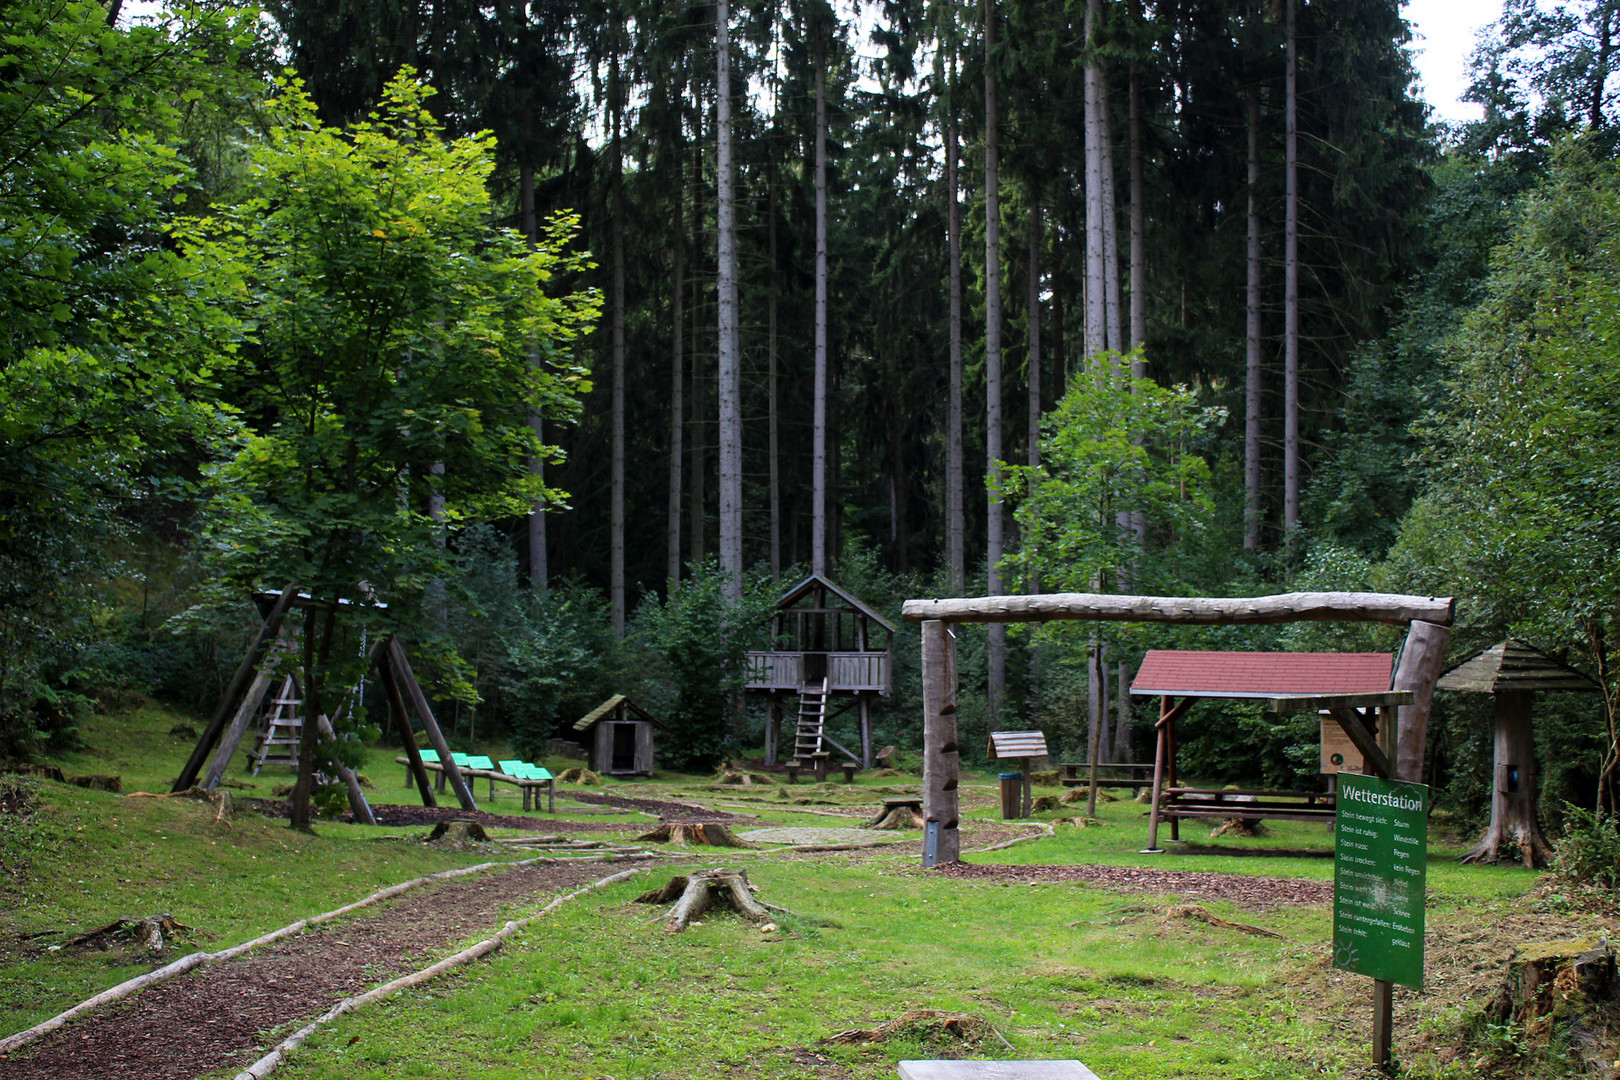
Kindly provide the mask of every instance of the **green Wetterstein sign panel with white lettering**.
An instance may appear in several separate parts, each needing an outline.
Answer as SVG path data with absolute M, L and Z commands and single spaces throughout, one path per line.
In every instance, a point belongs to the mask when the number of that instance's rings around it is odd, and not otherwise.
M 1422 986 L 1429 789 L 1338 774 L 1333 967 Z

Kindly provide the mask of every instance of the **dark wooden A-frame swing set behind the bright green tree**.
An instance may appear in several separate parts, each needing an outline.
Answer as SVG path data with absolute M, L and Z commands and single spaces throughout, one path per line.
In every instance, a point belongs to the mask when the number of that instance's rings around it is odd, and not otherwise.
M 230 683 L 225 687 L 225 693 L 220 696 L 219 706 L 209 717 L 207 727 L 198 738 L 196 748 L 193 748 L 185 767 L 175 779 L 172 789 L 175 792 L 185 792 L 193 787 L 219 787 L 219 782 L 225 777 L 225 767 L 241 746 L 241 740 L 246 737 L 253 719 L 259 714 L 271 687 L 277 682 L 275 653 L 277 643 L 287 641 L 285 631 L 288 612 L 293 609 L 329 610 L 332 607 L 329 601 L 318 601 L 308 594 L 298 593 L 295 585 L 288 585 L 280 591 L 254 593 L 253 602 L 259 609 L 262 623 L 259 625 L 253 643 L 248 646 L 248 654 L 241 657 L 241 664 L 237 667 Z M 339 601 L 339 604 L 348 604 L 348 601 Z M 455 798 L 462 810 L 478 810 L 478 803 L 473 800 L 473 790 L 467 784 L 467 777 L 462 776 L 460 767 L 457 767 L 455 758 L 450 755 L 450 746 L 444 738 L 444 732 L 439 730 L 439 722 L 434 719 L 433 709 L 428 706 L 428 695 L 421 691 L 421 685 L 411 672 L 410 659 L 405 656 L 405 648 L 392 633 L 384 635 L 376 644 L 371 646 L 368 659 L 371 670 L 377 672 L 382 691 L 389 699 L 389 716 L 399 732 L 400 742 L 405 746 L 408 767 L 411 777 L 416 780 L 418 792 L 421 792 L 423 806 L 437 806 L 437 800 L 433 793 L 433 780 L 428 776 L 428 766 L 423 763 L 421 751 L 416 748 L 416 737 L 411 730 L 410 712 L 405 708 L 407 699 L 410 701 L 411 709 L 415 709 L 416 719 L 421 722 L 421 729 L 428 735 L 428 742 L 433 743 L 433 748 L 439 753 L 439 769 L 442 771 L 450 790 L 455 792 Z M 339 706 L 337 716 L 342 717 L 342 712 L 347 708 L 348 703 L 345 701 Z M 308 724 L 309 719 L 306 717 L 303 722 Z M 313 722 L 316 724 L 316 730 L 321 738 L 327 742 L 337 740 L 330 717 L 322 714 L 313 717 Z M 343 764 L 337 766 L 337 774 L 348 789 L 348 803 L 355 811 L 355 821 L 376 824 L 376 816 L 366 803 L 366 795 L 360 789 L 358 777 L 355 777 L 355 774 Z

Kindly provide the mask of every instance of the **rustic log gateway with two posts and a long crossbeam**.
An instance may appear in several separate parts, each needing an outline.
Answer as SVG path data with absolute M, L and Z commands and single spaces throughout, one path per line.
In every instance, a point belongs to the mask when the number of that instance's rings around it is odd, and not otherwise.
M 1380 622 L 1406 627 L 1406 641 L 1395 665 L 1393 690 L 1411 695 L 1408 704 L 1383 709 L 1383 755 L 1366 730 L 1361 735 L 1377 756 L 1371 769 L 1382 776 L 1418 780 L 1429 740 L 1429 706 L 1434 685 L 1452 640 L 1455 602 L 1450 596 L 1401 596 L 1392 593 L 1283 593 L 1247 597 L 1111 596 L 1053 593 L 1043 596 L 980 596 L 962 599 L 912 599 L 901 612 L 922 623 L 923 699 L 923 866 L 961 861 L 957 831 L 961 750 L 956 733 L 956 638 L 954 623 L 1048 622 L 1163 622 L 1192 627 L 1268 625 L 1283 622 Z M 1293 703 L 1296 708 L 1298 701 Z M 1348 703 L 1335 703 L 1354 712 Z M 1349 732 L 1348 717 L 1340 722 Z M 1160 725 L 1165 719 L 1160 719 Z M 1393 729 L 1393 730 L 1392 730 Z M 1356 735 L 1351 733 L 1354 738 Z M 1358 740 L 1359 745 L 1359 740 Z M 1379 761 L 1379 758 L 1383 758 Z M 1380 769 L 1382 764 L 1382 769 Z

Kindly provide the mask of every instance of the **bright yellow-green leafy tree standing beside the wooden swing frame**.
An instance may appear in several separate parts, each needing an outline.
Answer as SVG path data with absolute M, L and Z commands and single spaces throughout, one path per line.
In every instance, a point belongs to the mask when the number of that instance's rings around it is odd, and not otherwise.
M 364 601 L 350 623 L 421 630 L 447 525 L 561 499 L 528 470 L 551 453 L 528 419 L 577 413 L 586 372 L 564 350 L 596 300 L 546 293 L 580 264 L 562 251 L 570 222 L 533 249 L 488 223 L 492 139 L 446 141 L 410 71 L 342 131 L 296 81 L 280 91 L 245 198 L 177 232 L 240 321 L 227 393 L 243 427 L 211 476 L 217 580 L 238 594 L 296 581 L 326 606 L 303 633 L 316 716 L 358 674 L 334 651 L 339 599 Z M 306 737 L 295 827 L 313 761 Z

